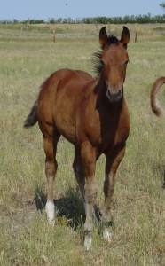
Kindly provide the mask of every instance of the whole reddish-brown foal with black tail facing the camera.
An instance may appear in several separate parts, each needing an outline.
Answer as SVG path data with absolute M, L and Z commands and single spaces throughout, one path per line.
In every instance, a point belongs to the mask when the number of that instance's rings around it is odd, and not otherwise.
M 45 172 L 48 182 L 46 213 L 54 223 L 53 179 L 57 171 L 56 151 L 62 135 L 75 145 L 73 168 L 83 196 L 86 220 L 84 246 L 91 246 L 92 211 L 97 198 L 95 179 L 96 161 L 106 155 L 104 182 L 105 202 L 100 211 L 104 239 L 111 240 L 109 225 L 112 222 L 111 202 L 114 193 L 114 176 L 124 156 L 129 136 L 130 118 L 123 96 L 123 83 L 129 61 L 127 44 L 130 32 L 123 27 L 121 40 L 99 32 L 102 50 L 98 59 L 98 76 L 93 78 L 83 71 L 60 69 L 43 82 L 39 96 L 24 126 L 38 121 L 43 133 L 46 155 Z

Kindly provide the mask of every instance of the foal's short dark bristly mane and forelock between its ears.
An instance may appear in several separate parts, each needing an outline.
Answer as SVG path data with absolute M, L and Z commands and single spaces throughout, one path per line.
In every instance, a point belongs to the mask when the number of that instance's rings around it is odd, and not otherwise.
M 119 40 L 114 35 L 107 36 L 107 47 L 109 47 L 111 44 L 117 45 L 118 43 L 119 43 Z M 100 74 L 104 66 L 104 63 L 101 60 L 102 54 L 103 54 L 102 50 L 96 51 L 93 54 L 92 66 L 96 74 Z

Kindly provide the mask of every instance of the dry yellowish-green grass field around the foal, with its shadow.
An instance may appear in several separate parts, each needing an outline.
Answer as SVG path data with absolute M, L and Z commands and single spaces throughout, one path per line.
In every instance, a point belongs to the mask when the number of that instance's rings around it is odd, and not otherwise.
M 83 251 L 83 203 L 72 170 L 73 146 L 61 138 L 55 186 L 57 224 L 44 213 L 43 139 L 37 126 L 23 129 L 43 80 L 61 67 L 93 74 L 99 26 L 0 27 L 0 265 L 165 265 L 165 119 L 151 112 L 149 92 L 165 75 L 165 25 L 128 26 L 130 64 L 125 97 L 130 109 L 127 153 L 114 192 L 114 239 L 107 245 L 94 227 Z M 122 26 L 108 26 L 117 35 Z M 138 31 L 138 43 L 134 43 Z M 159 98 L 165 106 L 165 92 Z M 103 202 L 105 158 L 97 165 Z

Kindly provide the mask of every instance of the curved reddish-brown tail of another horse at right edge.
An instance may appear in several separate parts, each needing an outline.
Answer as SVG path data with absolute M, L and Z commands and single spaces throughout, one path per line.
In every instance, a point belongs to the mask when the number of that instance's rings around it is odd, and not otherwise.
M 163 109 L 161 108 L 158 102 L 158 99 L 156 98 L 156 94 L 158 90 L 160 90 L 163 83 L 165 83 L 165 76 L 158 78 L 154 82 L 153 88 L 150 94 L 151 107 L 152 107 L 153 113 L 156 114 L 157 116 L 161 116 L 163 114 Z

